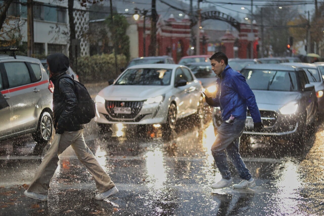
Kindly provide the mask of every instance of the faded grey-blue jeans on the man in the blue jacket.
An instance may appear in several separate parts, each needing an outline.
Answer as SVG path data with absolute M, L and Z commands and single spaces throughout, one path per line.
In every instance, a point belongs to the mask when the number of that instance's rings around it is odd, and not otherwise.
M 217 136 L 212 145 L 212 155 L 219 172 L 223 178 L 229 178 L 229 171 L 226 160 L 226 153 L 237 169 L 240 177 L 246 180 L 251 178 L 249 170 L 246 168 L 239 153 L 240 137 L 245 127 L 245 119 L 234 119 L 234 122 L 223 122 L 217 129 Z

